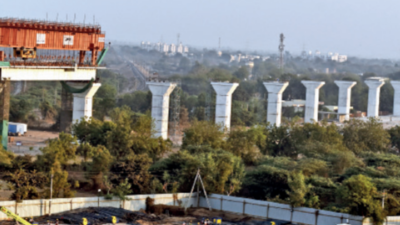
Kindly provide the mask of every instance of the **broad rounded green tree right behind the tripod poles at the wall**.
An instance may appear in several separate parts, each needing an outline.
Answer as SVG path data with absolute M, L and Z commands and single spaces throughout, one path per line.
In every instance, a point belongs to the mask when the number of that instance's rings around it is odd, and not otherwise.
M 204 148 L 204 147 L 203 147 Z M 198 151 L 198 148 L 170 155 L 168 158 L 155 163 L 151 172 L 163 175 L 168 171 L 168 180 L 163 182 L 179 182 L 180 191 L 189 191 L 196 176 L 197 169 L 201 169 L 201 176 L 205 188 L 211 193 L 232 194 L 240 190 L 245 175 L 242 160 L 232 153 L 207 148 Z

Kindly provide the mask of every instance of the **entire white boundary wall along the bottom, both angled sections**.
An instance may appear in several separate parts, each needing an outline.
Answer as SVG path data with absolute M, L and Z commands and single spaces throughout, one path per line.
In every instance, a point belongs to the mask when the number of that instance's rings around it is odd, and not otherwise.
M 138 211 L 146 208 L 146 198 L 155 199 L 156 204 L 178 205 L 174 201 L 173 194 L 149 194 L 129 195 L 129 200 L 121 201 L 118 198 L 105 200 L 103 197 L 90 198 L 60 198 L 51 202 L 51 213 L 60 213 L 73 209 L 87 207 L 115 207 L 126 210 Z M 177 194 L 177 200 L 182 201 L 182 207 L 197 206 L 197 194 L 193 194 L 189 200 L 189 193 Z M 362 216 L 353 216 L 346 213 L 337 213 L 325 210 L 318 210 L 306 207 L 291 208 L 289 205 L 276 202 L 254 200 L 248 198 L 231 197 L 226 195 L 212 194 L 209 196 L 211 208 L 236 214 L 248 216 L 292 221 L 308 225 L 337 225 L 349 220 L 351 225 L 373 225 L 372 222 Z M 42 216 L 49 214 L 49 199 L 24 200 L 22 203 L 15 201 L 1 201 L 0 205 L 5 206 L 11 212 L 16 212 L 22 217 Z M 201 197 L 200 207 L 208 207 L 206 200 Z M 0 214 L 0 220 L 8 219 L 5 214 Z M 364 219 L 364 221 L 363 221 Z M 400 216 L 389 216 L 385 225 L 400 225 Z

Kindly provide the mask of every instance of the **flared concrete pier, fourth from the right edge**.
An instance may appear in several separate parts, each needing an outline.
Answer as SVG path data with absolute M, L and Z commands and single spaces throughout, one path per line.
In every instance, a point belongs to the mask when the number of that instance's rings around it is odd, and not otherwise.
M 318 121 L 319 89 L 324 86 L 323 81 L 302 80 L 306 87 L 306 105 L 304 110 L 304 122 L 313 123 Z

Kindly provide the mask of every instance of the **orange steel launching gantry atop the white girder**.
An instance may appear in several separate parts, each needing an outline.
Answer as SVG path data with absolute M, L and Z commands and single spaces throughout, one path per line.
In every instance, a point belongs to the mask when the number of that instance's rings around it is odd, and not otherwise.
M 107 51 L 104 47 L 99 25 L 0 18 L 0 62 L 97 66 Z

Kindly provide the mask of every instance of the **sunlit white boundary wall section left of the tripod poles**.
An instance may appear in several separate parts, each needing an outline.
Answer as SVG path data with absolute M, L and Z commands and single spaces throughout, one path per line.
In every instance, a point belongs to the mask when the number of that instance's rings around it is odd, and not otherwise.
M 154 198 L 155 204 L 165 205 L 178 205 L 174 201 L 173 194 L 149 194 L 149 195 L 128 195 L 129 200 L 121 201 L 119 198 L 106 200 L 104 197 L 90 197 L 90 198 L 58 198 L 51 200 L 51 213 L 60 213 L 73 209 L 87 208 L 87 207 L 115 207 L 124 208 L 126 210 L 139 211 L 146 208 L 146 198 Z M 177 200 L 182 201 L 182 206 L 196 206 L 197 195 L 192 195 L 189 201 L 189 193 L 177 194 Z M 13 213 L 17 213 L 22 217 L 42 216 L 50 212 L 50 200 L 24 200 L 21 203 L 15 201 L 0 201 L 0 205 L 6 207 Z M 4 213 L 0 213 L 0 220 L 8 219 Z

